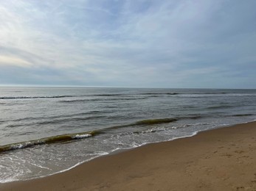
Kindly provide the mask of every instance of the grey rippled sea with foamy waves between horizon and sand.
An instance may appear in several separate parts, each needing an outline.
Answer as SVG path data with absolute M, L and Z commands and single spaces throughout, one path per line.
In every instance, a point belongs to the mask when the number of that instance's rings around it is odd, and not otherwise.
M 0 87 L 0 182 L 256 119 L 256 90 Z

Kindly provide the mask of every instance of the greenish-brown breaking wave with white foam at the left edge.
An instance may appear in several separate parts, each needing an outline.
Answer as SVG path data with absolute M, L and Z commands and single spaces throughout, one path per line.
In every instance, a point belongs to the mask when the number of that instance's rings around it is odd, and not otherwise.
M 20 143 L 12 143 L 9 145 L 1 145 L 0 146 L 0 153 L 4 151 L 13 151 L 21 148 L 28 148 L 35 145 L 45 145 L 45 144 L 52 144 L 52 143 L 65 143 L 70 140 L 79 140 L 84 139 L 88 137 L 93 137 L 97 134 L 100 134 L 100 131 L 88 131 L 88 132 L 82 132 L 82 133 L 76 133 L 76 134 L 61 134 L 56 135 L 53 137 L 46 137 L 41 138 L 38 140 L 30 140 L 30 141 L 24 141 Z

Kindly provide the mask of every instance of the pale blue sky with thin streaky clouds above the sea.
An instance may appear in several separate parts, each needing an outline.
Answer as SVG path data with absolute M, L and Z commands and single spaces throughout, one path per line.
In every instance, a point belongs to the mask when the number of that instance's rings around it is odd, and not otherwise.
M 0 84 L 256 88 L 255 0 L 1 0 Z

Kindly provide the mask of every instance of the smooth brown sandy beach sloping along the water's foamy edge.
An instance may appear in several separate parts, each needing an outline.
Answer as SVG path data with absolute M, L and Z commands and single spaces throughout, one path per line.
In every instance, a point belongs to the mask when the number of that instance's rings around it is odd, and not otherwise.
M 103 156 L 0 190 L 256 190 L 256 122 Z

